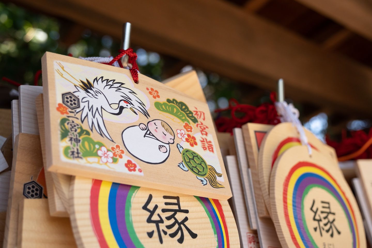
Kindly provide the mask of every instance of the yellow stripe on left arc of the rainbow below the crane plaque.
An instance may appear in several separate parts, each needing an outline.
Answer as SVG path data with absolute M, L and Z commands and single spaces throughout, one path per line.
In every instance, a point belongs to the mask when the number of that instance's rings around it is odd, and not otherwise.
M 112 182 L 102 181 L 101 188 L 99 190 L 98 197 L 98 214 L 99 222 L 101 223 L 101 228 L 103 236 L 110 248 L 119 248 L 118 243 L 115 240 L 114 234 L 111 230 L 110 220 L 109 220 L 109 193 L 111 189 Z

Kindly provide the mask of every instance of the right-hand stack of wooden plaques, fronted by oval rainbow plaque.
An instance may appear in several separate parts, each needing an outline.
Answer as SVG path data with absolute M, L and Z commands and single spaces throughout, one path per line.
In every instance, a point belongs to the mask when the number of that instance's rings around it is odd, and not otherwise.
M 241 247 L 366 247 L 334 149 L 305 133 L 310 150 L 291 123 L 247 123 L 225 142 Z

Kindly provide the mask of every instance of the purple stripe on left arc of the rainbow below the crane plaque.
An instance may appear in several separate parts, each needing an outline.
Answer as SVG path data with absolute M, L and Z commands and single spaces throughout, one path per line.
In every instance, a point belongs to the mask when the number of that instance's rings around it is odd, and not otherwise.
M 132 186 L 120 184 L 118 192 L 116 193 L 116 220 L 118 222 L 118 229 L 126 247 L 135 248 L 131 237 L 129 236 L 128 229 L 126 228 L 125 220 L 125 203 L 128 197 L 128 192 Z

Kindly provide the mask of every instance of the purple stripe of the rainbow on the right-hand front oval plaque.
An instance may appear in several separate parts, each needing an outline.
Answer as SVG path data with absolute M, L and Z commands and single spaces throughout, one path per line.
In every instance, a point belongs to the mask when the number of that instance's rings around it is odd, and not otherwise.
M 340 197 L 340 194 L 334 189 L 333 186 L 330 185 L 330 183 L 328 181 L 325 181 L 325 179 L 320 179 L 318 178 L 319 175 L 317 176 L 308 176 L 306 178 L 304 178 L 301 183 L 299 184 L 298 186 L 298 189 L 296 190 L 296 206 L 294 206 L 296 209 L 296 212 L 297 212 L 297 221 L 296 221 L 296 225 L 297 225 L 297 228 L 298 226 L 300 226 L 300 230 L 301 232 L 303 233 L 303 235 L 305 236 L 305 240 L 307 242 L 307 244 L 309 245 L 309 247 L 313 247 L 310 239 L 308 238 L 307 236 L 307 233 L 305 231 L 305 228 L 304 228 L 304 222 L 302 221 L 302 212 L 301 212 L 301 201 L 302 201 L 302 194 L 304 193 L 304 190 L 306 189 L 307 186 L 309 186 L 310 184 L 317 184 L 317 185 L 321 185 L 323 187 L 325 187 L 326 189 L 330 190 L 333 194 L 333 196 L 335 196 L 339 202 L 341 203 L 341 206 L 343 207 L 345 213 L 346 213 L 346 216 L 347 216 L 347 219 L 349 221 L 349 224 L 350 224 L 350 227 L 351 227 L 351 231 L 352 231 L 352 235 L 353 235 L 353 242 L 355 243 L 356 241 L 356 237 L 355 237 L 355 229 L 354 229 L 354 226 L 353 226 L 353 221 L 351 219 L 351 216 L 350 216 L 350 213 L 345 205 L 345 202 L 343 201 L 343 199 Z M 296 182 L 297 184 L 298 182 Z M 320 211 L 320 210 L 318 210 Z M 355 244 L 354 244 L 355 245 Z

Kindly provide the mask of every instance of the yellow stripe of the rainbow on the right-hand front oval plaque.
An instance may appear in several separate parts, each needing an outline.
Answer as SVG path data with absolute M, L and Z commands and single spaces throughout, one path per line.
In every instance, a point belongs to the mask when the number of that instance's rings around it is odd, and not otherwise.
M 345 202 L 345 204 L 347 206 L 347 210 L 349 211 L 350 216 L 352 218 L 353 225 L 355 227 L 356 241 L 358 242 L 358 235 L 359 234 L 357 233 L 357 230 L 356 230 L 355 218 L 352 215 L 351 206 L 347 202 L 346 197 L 344 196 L 344 194 L 341 192 L 341 189 L 337 186 L 337 184 L 335 183 L 334 180 L 332 180 L 331 177 L 329 177 L 326 173 L 324 173 L 323 170 L 320 170 L 318 168 L 311 167 L 311 166 L 304 166 L 304 167 L 298 168 L 292 174 L 292 177 L 291 177 L 291 179 L 289 180 L 289 183 L 288 183 L 288 191 L 287 191 L 288 192 L 287 193 L 287 206 L 288 206 L 288 215 L 289 215 L 288 217 L 289 217 L 289 220 L 291 222 L 293 233 L 294 233 L 294 235 L 296 237 L 296 240 L 298 241 L 298 244 L 300 245 L 300 247 L 305 248 L 305 245 L 303 244 L 303 242 L 301 240 L 301 237 L 299 236 L 299 232 L 297 230 L 297 227 L 296 227 L 296 223 L 295 223 L 295 219 L 294 219 L 294 214 L 293 214 L 293 207 L 292 207 L 292 195 L 293 195 L 293 190 L 294 190 L 295 183 L 296 183 L 297 179 L 303 173 L 309 173 L 309 172 L 310 173 L 315 173 L 315 174 L 318 174 L 318 175 L 324 177 L 325 180 L 327 180 L 331 185 L 333 185 L 333 187 L 336 189 L 336 191 L 340 194 L 340 196 L 343 199 L 343 201 Z M 289 190 L 291 190 L 291 191 L 289 191 Z M 357 244 L 356 247 L 359 247 L 359 244 Z

